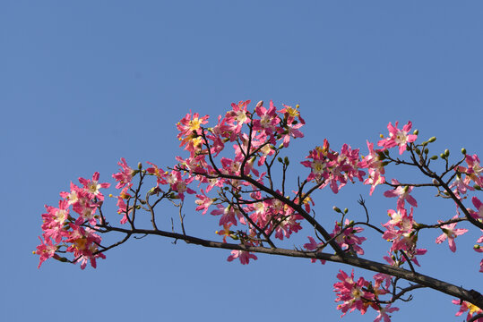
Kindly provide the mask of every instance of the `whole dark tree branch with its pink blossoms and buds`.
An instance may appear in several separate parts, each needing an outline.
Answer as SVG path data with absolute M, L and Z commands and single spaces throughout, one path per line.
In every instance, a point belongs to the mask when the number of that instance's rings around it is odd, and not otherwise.
M 334 291 L 342 316 L 355 309 L 362 314 L 367 309 L 375 309 L 378 312 L 375 322 L 383 318 L 387 322 L 389 313 L 399 310 L 392 307 L 392 303 L 410 301 L 410 292 L 426 287 L 457 298 L 453 303 L 460 306 L 458 316 L 469 311 L 468 321 L 479 320 L 483 312 L 483 296 L 478 291 L 422 275 L 417 269 L 418 257 L 427 253 L 427 249 L 418 248 L 419 233 L 442 232 L 436 243 L 447 241 L 454 252 L 457 236 L 470 229 L 483 228 L 483 203 L 472 196 L 474 208 L 464 205 L 470 193 L 479 192 L 483 183 L 483 167 L 477 155 L 469 155 L 462 149 L 463 157 L 456 163 L 450 162 L 449 150 L 439 157 L 430 156 L 429 146 L 436 138 L 417 143 L 418 131 L 410 133 L 410 122 L 402 129 L 398 128 L 397 122 L 394 125 L 389 123 L 389 135 L 381 135 L 382 140 L 377 142 L 381 148 L 375 149 L 374 143 L 367 142 L 366 156 L 360 156 L 359 149 L 347 144 L 340 151 L 334 151 L 328 140 L 324 140 L 323 146 L 309 151 L 305 161 L 300 162 L 308 168 L 309 174 L 303 180 L 298 177 L 295 190 L 290 192 L 290 159 L 280 157 L 280 151 L 288 148 L 291 140 L 304 136 L 300 128 L 306 122 L 300 116 L 298 106 L 284 106 L 277 110 L 272 102 L 268 108 L 259 102 L 253 111 L 249 111 L 248 104 L 249 101 L 233 104 L 213 127 L 205 127 L 208 115 L 186 114 L 177 123 L 177 138 L 189 157 L 177 157 L 177 165 L 168 171 L 150 162 L 148 167 L 140 163 L 134 169 L 122 158 L 120 171 L 113 174 L 118 192 L 109 195 L 117 200 L 121 226 L 111 225 L 103 213 L 104 196 L 100 190 L 108 188 L 109 183 L 99 183 L 99 173 L 95 173 L 91 180 L 80 178 L 82 186 L 71 183 L 70 191 L 61 193 L 59 207 L 46 206 L 47 213 L 42 215 L 41 244 L 35 251 L 40 256 L 39 267 L 47 258 L 80 262 L 82 268 L 90 261 L 91 266 L 96 267 L 97 258 L 106 258 L 104 254 L 108 250 L 121 246 L 131 237 L 156 235 L 175 242 L 181 240 L 231 250 L 228 260 L 238 258 L 242 264 L 257 259 L 255 253 L 265 253 L 310 258 L 312 262 L 320 260 L 323 264 L 330 261 L 377 273 L 374 281 L 367 281 L 364 277 L 356 280 L 353 270 L 350 275 L 340 271 Z M 226 149 L 228 143 L 233 147 L 232 158 Z M 392 148 L 397 148 L 398 157 L 391 155 Z M 409 158 L 401 158 L 404 153 Z M 444 161 L 444 170 L 439 173 L 430 167 L 438 158 Z M 388 165 L 414 168 L 430 182 L 401 183 L 395 178 L 386 181 Z M 280 166 L 278 188 L 274 175 L 277 166 Z M 193 182 L 198 182 L 198 191 L 192 189 Z M 396 208 L 387 210 L 390 220 L 382 226 L 371 224 L 371 215 L 361 197 L 358 202 L 364 208 L 366 222 L 349 220 L 349 210 L 337 207 L 333 210 L 340 219 L 335 221 L 332 232 L 317 221 L 313 209 L 314 192 L 329 187 L 338 193 L 349 182 L 369 185 L 370 195 L 378 185 L 389 187 L 384 196 L 396 199 Z M 146 185 L 149 189 L 145 190 Z M 436 198 L 452 199 L 456 214 L 437 223 L 418 223 L 414 219 L 418 201 L 411 191 L 422 187 L 435 189 Z M 213 192 L 216 192 L 214 196 Z M 186 233 L 182 208 L 187 194 L 196 196 L 196 211 L 202 211 L 204 215 L 211 208 L 210 214 L 220 217 L 222 228 L 217 234 L 222 237 L 222 242 Z M 155 208 L 166 202 L 179 210 L 180 232 L 175 230 L 173 219 L 171 231 L 166 227 L 160 229 L 157 223 L 159 215 Z M 150 228 L 139 224 L 139 218 L 146 216 L 151 222 Z M 456 225 L 466 225 L 468 229 L 456 228 Z M 314 236 L 307 235 L 308 242 L 301 247 L 284 247 L 283 241 L 304 226 L 314 229 Z M 387 264 L 364 258 L 362 244 L 367 237 L 362 236 L 363 227 L 391 243 L 389 256 L 383 257 Z M 101 235 L 106 233 L 123 233 L 124 237 L 105 246 L 101 243 Z M 237 243 L 227 242 L 227 239 Z M 483 236 L 476 243 L 474 250 L 483 252 L 479 246 L 483 243 Z M 72 253 L 73 258 L 65 258 L 68 253 Z M 483 272 L 483 260 L 479 271 Z M 401 287 L 402 280 L 410 284 Z M 407 294 L 409 296 L 403 298 Z

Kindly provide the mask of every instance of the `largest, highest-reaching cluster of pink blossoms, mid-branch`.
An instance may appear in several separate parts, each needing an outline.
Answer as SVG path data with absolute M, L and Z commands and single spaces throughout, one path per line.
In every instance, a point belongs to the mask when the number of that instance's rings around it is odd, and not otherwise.
M 232 104 L 232 109 L 224 117 L 218 118 L 218 123 L 212 128 L 203 128 L 208 123 L 208 116 L 200 117 L 199 114 L 186 114 L 177 123 L 179 131 L 177 138 L 181 141 L 180 146 L 189 151 L 190 157 L 177 157 L 178 171 L 190 174 L 191 180 L 206 184 L 196 197 L 196 210 L 203 210 L 214 206 L 210 214 L 220 216 L 220 226 L 223 227 L 218 233 L 226 242 L 227 237 L 240 238 L 245 245 L 259 245 L 258 236 L 274 234 L 275 238 L 283 240 L 289 238 L 291 233 L 297 233 L 302 227 L 303 219 L 293 208 L 282 203 L 280 199 L 266 198 L 260 191 L 254 191 L 250 198 L 260 200 L 246 205 L 225 204 L 226 199 L 211 199 L 206 196 L 214 187 L 229 186 L 235 191 L 241 191 L 242 186 L 250 186 L 246 181 L 237 178 L 243 175 L 254 178 L 254 181 L 263 184 L 266 173 L 260 173 L 256 167 L 264 164 L 266 157 L 272 156 L 277 141 L 280 147 L 287 148 L 290 139 L 301 138 L 303 133 L 299 131 L 305 121 L 298 113 L 298 106 L 284 106 L 280 110 L 270 102 L 270 107 L 263 106 L 259 102 L 254 113 L 248 111 L 250 101 L 241 101 Z M 250 124 L 251 131 L 246 134 L 242 131 L 245 124 Z M 210 157 L 218 157 L 225 148 L 227 142 L 234 142 L 235 157 L 221 157 L 220 167 L 211 165 Z M 244 163 L 246 155 L 252 156 Z M 243 167 L 243 169 L 242 169 Z M 243 173 L 242 173 L 243 171 Z M 280 191 L 276 191 L 280 194 Z M 304 207 L 309 209 L 309 199 L 305 199 Z M 295 198 L 297 202 L 297 197 Z M 234 232 L 234 226 L 247 225 L 246 233 Z M 256 227 L 263 227 L 262 232 Z M 250 258 L 256 259 L 253 254 L 245 250 L 233 250 L 229 261 L 239 258 L 242 264 L 247 264 Z

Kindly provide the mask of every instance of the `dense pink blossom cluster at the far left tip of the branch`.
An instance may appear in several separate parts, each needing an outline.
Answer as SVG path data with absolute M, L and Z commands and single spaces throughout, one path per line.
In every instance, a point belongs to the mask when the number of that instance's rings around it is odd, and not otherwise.
M 79 182 L 82 187 L 71 182 L 71 191 L 60 193 L 62 199 L 58 208 L 46 205 L 47 213 L 42 214 L 43 239 L 40 238 L 41 243 L 34 251 L 40 256 L 39 267 L 47 258 L 67 261 L 59 253 L 73 253 L 73 262 L 81 262 L 82 269 L 88 260 L 96 267 L 96 258 L 106 258 L 98 252 L 100 236 L 82 225 L 98 224 L 96 210 L 104 200 L 100 189 L 108 188 L 109 183 L 99 183 L 99 173 L 95 173 L 92 180 L 79 178 Z

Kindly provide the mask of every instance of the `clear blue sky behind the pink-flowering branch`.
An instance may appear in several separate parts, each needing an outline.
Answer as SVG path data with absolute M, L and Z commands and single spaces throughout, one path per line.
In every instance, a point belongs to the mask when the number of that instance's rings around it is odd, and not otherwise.
M 43 206 L 55 206 L 79 176 L 99 171 L 112 182 L 120 157 L 174 165 L 184 155 L 175 123 L 185 113 L 215 119 L 245 99 L 300 104 L 306 138 L 288 152 L 294 165 L 324 138 L 366 153 L 366 140 L 398 120 L 411 120 L 422 138 L 437 136 L 438 154 L 450 148 L 458 155 L 463 146 L 479 153 L 482 14 L 477 1 L 2 2 L 0 317 L 338 320 L 332 284 L 339 269 L 350 268 L 336 264 L 260 255 L 241 266 L 226 261 L 226 250 L 147 237 L 109 251 L 97 269 L 57 261 L 37 269 L 31 251 Z M 386 222 L 395 204 L 380 197 L 384 190 L 367 200 L 375 223 Z M 334 205 L 360 214 L 359 193 L 367 196 L 367 187 L 321 191 L 315 210 L 327 223 L 336 219 Z M 414 195 L 417 221 L 453 216 L 453 205 L 433 200 L 434 191 Z M 186 215 L 193 234 L 217 229 L 210 216 Z M 114 211 L 109 216 L 116 221 Z M 167 207 L 166 216 L 176 209 Z M 305 242 L 307 232 L 299 234 L 294 243 Z M 480 258 L 471 250 L 477 233 L 459 237 L 456 254 L 447 243 L 436 247 L 438 234 L 420 241 L 429 249 L 421 272 L 481 291 Z M 375 259 L 388 248 L 369 245 Z M 461 320 L 453 318 L 452 298 L 413 295 L 396 305 L 392 321 Z M 374 318 L 369 311 L 342 321 Z

